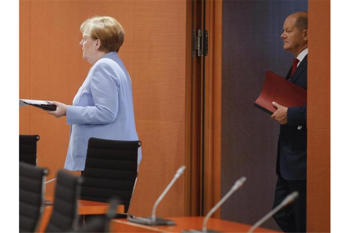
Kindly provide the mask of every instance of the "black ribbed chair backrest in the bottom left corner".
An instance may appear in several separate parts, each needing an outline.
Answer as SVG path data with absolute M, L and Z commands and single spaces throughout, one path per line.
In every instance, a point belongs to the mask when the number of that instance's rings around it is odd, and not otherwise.
M 44 211 L 48 169 L 19 164 L 19 232 L 36 232 Z

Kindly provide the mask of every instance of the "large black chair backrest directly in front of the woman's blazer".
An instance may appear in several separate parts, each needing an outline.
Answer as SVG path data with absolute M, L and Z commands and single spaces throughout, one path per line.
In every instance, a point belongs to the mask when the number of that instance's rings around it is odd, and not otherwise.
M 140 141 L 90 138 L 80 198 L 109 202 L 118 197 L 127 212 L 137 179 L 140 146 Z

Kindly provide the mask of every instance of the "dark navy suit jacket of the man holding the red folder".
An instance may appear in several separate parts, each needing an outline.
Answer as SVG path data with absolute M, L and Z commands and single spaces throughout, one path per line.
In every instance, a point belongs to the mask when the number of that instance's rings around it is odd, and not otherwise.
M 307 55 L 289 78 L 290 71 L 286 78 L 307 89 Z M 289 107 L 287 121 L 280 126 L 276 172 L 285 180 L 306 180 L 306 105 Z M 302 125 L 301 130 L 297 129 L 299 125 Z

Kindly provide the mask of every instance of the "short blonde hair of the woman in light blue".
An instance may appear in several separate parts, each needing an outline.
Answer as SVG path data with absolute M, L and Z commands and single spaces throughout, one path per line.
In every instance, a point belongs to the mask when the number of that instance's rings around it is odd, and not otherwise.
M 98 49 L 106 53 L 118 52 L 124 42 L 124 29 L 121 24 L 110 16 L 94 16 L 80 25 L 83 33 L 87 29 L 88 35 L 93 39 L 100 39 Z

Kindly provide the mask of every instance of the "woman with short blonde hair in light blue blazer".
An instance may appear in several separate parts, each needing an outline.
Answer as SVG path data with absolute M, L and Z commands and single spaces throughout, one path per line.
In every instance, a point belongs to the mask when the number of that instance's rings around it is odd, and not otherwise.
M 84 170 L 89 138 L 139 140 L 135 127 L 130 76 L 117 52 L 124 30 L 116 19 L 96 16 L 80 26 L 83 58 L 92 67 L 73 99 L 73 105 L 53 101 L 56 117 L 71 125 L 64 168 Z M 141 161 L 141 149 L 138 164 Z

